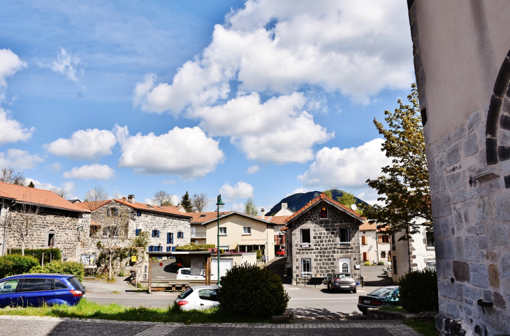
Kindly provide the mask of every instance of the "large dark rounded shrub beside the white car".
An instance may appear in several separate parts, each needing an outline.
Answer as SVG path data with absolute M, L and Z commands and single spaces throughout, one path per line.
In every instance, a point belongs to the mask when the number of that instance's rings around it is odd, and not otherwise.
M 219 309 L 227 315 L 269 317 L 285 312 L 289 294 L 278 275 L 245 263 L 227 271 L 218 300 Z

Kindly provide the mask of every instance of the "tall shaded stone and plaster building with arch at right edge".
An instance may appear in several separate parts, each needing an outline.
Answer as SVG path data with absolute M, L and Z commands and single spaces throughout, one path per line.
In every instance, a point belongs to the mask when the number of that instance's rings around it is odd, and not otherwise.
M 408 0 L 441 335 L 510 334 L 510 3 Z

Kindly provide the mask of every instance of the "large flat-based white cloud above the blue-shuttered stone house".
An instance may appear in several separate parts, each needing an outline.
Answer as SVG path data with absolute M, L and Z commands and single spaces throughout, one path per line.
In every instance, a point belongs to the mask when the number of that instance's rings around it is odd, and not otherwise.
M 127 127 L 117 127 L 117 139 L 122 151 L 119 167 L 140 174 L 175 174 L 186 180 L 207 175 L 224 160 L 219 142 L 198 127 L 133 136 Z

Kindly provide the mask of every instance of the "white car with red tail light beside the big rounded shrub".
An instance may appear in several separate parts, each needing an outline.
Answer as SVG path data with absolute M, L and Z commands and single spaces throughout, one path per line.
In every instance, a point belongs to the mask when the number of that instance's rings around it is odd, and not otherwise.
M 218 286 L 194 286 L 177 296 L 174 303 L 182 310 L 208 310 L 218 307 Z

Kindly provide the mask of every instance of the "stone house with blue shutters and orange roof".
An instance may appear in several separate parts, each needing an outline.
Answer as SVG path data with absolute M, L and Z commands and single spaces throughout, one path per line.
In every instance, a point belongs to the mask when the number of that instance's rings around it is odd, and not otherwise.
M 149 232 L 149 251 L 170 252 L 173 248 L 188 245 L 191 241 L 191 216 L 182 213 L 177 206 L 136 202 L 134 195 L 129 195 L 127 199 L 82 202 L 77 205 L 91 209 L 92 220 L 99 224 L 92 227 L 92 238 L 101 239 L 112 222 L 112 217 L 123 217 L 122 221 L 127 223 L 127 238 L 135 238 L 142 231 Z

